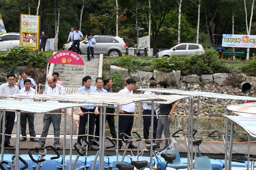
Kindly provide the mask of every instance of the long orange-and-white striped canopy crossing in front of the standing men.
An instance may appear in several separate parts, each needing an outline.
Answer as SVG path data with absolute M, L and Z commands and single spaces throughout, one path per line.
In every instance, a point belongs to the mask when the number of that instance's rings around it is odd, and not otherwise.
M 1 95 L 1 97 L 30 98 L 42 100 L 58 100 L 67 102 L 101 103 L 111 105 L 126 105 L 133 102 L 154 101 L 173 103 L 191 96 L 181 95 L 145 95 L 145 94 L 120 94 L 120 93 L 73 93 L 73 94 L 15 94 Z

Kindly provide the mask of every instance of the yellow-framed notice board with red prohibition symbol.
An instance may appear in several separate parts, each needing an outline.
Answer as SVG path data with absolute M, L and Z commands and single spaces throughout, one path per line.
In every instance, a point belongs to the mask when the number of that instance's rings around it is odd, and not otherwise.
M 40 16 L 20 14 L 20 45 L 39 49 Z

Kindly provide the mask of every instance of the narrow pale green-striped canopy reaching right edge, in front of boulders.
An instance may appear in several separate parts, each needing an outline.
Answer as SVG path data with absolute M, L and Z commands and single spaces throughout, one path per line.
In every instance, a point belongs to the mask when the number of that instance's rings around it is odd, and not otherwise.
M 230 99 L 230 100 L 254 100 L 256 101 L 256 97 L 247 97 L 247 96 L 235 96 L 229 94 L 220 94 L 220 93 L 212 93 L 212 92 L 204 92 L 204 91 L 183 91 L 177 89 L 167 89 L 167 88 L 143 88 L 137 89 L 139 91 L 154 91 L 160 93 L 169 93 L 169 94 L 180 94 L 180 95 L 189 95 L 195 97 L 211 97 L 211 98 L 220 98 L 220 99 Z

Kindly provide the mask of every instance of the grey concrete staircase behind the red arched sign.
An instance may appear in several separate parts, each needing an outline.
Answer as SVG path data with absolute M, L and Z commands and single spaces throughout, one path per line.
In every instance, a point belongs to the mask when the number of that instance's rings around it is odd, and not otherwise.
M 101 64 L 99 64 L 100 57 L 97 55 L 94 56 L 94 59 L 91 59 L 89 62 L 87 61 L 87 55 L 80 56 L 85 62 L 86 75 L 92 77 L 92 86 L 95 86 L 96 78 L 102 76 L 102 61 Z M 103 57 L 101 60 L 102 59 Z M 84 65 L 55 64 L 53 72 L 59 73 L 59 80 L 62 82 L 63 87 L 79 88 L 82 86 L 82 79 L 84 77 Z

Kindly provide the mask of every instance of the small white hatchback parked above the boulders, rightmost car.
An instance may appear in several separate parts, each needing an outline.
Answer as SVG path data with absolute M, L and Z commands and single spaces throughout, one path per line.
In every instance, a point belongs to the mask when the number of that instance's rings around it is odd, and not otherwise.
M 170 57 L 173 55 L 186 56 L 196 52 L 204 54 L 204 48 L 201 44 L 180 43 L 170 49 L 157 52 L 156 58 Z

